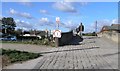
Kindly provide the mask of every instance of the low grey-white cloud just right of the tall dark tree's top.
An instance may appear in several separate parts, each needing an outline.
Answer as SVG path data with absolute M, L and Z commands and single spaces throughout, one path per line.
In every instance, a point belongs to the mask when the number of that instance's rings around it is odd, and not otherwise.
M 24 30 L 30 30 L 35 29 L 35 24 L 31 24 L 29 22 L 21 21 L 21 20 L 15 20 L 17 28 L 22 28 Z

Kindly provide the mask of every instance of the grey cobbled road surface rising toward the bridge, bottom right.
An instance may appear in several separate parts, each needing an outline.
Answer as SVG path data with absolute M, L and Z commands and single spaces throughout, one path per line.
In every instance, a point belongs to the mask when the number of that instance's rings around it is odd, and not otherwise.
M 45 53 L 34 69 L 118 69 L 118 46 L 101 38 L 85 39 L 81 45 Z

